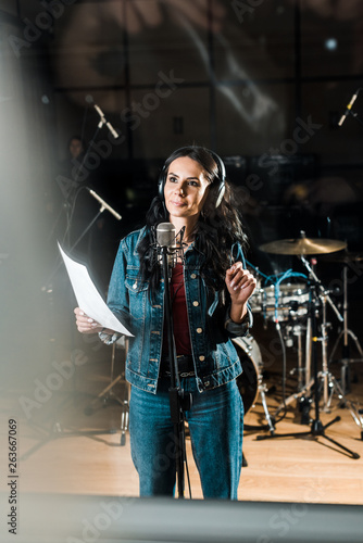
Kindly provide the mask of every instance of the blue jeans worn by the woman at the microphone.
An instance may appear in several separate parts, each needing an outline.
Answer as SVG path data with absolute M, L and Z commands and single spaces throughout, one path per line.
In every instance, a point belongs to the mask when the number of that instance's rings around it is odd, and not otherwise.
M 129 431 L 140 496 L 173 496 L 175 490 L 174 427 L 170 416 L 168 379 L 160 379 L 158 393 L 132 387 Z M 203 496 L 237 500 L 242 466 L 243 404 L 236 381 L 198 392 L 196 379 L 182 379 L 192 393 L 186 412 L 192 454 Z

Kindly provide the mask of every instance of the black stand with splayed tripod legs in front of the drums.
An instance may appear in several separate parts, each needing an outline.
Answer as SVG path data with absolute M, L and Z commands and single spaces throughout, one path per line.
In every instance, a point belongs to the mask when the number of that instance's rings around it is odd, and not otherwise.
M 314 277 L 315 274 L 314 274 L 313 270 L 311 270 L 309 263 L 305 261 L 305 258 L 303 256 L 301 256 L 301 260 L 304 262 L 306 268 L 312 273 L 312 276 Z M 256 439 L 258 440 L 266 440 L 266 439 L 276 439 L 276 438 L 305 438 L 305 437 L 309 437 L 309 435 L 314 437 L 314 438 L 322 437 L 322 438 L 325 438 L 326 440 L 328 440 L 329 442 L 334 443 L 338 447 L 337 452 L 340 452 L 339 449 L 341 449 L 342 452 L 346 453 L 346 454 L 348 454 L 351 458 L 358 459 L 358 458 L 360 458 L 360 455 L 358 453 L 354 453 L 353 451 L 351 451 L 350 449 L 346 447 L 341 443 L 338 443 L 338 441 L 334 440 L 333 438 L 329 438 L 325 433 L 325 430 L 329 426 L 334 425 L 335 422 L 338 422 L 340 420 L 340 417 L 339 416 L 335 417 L 333 420 L 330 420 L 326 425 L 323 425 L 322 421 L 321 421 L 321 419 L 320 419 L 320 387 L 318 387 L 320 375 L 318 375 L 318 371 L 317 371 L 317 355 L 316 355 L 316 343 L 318 341 L 318 338 L 316 336 L 316 308 L 317 308 L 317 303 L 318 303 L 320 295 L 317 295 L 316 292 L 315 292 L 316 287 L 318 287 L 320 289 L 323 288 L 322 285 L 321 285 L 321 281 L 317 278 L 316 278 L 315 283 L 312 283 L 310 286 L 311 292 L 310 292 L 310 304 L 309 304 L 310 307 L 309 307 L 309 312 L 310 312 L 310 316 L 311 316 L 311 319 L 312 319 L 313 380 L 306 387 L 306 390 L 311 389 L 311 387 L 313 387 L 313 389 L 314 389 L 315 418 L 312 420 L 311 429 L 309 431 L 306 431 L 306 432 L 291 432 L 291 433 L 280 433 L 280 434 L 274 433 L 274 434 L 271 434 L 271 435 L 258 435 Z M 326 295 L 326 300 L 327 299 L 328 299 L 328 295 Z M 324 331 L 324 329 L 323 329 L 323 331 Z M 321 376 L 322 376 L 322 374 L 321 374 Z

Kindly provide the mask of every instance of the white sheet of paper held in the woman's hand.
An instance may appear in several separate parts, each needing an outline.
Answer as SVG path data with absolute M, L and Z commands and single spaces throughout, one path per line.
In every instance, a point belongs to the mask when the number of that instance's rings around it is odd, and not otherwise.
M 58 243 L 58 247 L 68 273 L 78 307 L 104 328 L 111 328 L 111 330 L 115 330 L 124 336 L 133 337 L 105 304 L 103 298 L 89 277 L 86 266 L 73 261 L 65 254 L 60 243 Z

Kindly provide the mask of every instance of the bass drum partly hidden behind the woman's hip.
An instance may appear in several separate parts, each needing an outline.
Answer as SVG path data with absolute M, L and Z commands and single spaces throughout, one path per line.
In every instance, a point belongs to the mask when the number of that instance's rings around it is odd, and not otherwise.
M 243 400 L 246 415 L 259 395 L 259 384 L 262 379 L 261 351 L 250 333 L 242 338 L 233 338 L 231 341 L 243 369 L 243 372 L 237 377 L 237 386 Z

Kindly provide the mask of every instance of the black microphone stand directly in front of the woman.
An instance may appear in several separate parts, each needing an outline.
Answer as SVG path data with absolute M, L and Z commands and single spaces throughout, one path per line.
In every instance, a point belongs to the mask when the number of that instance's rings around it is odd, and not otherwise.
M 190 408 L 191 394 L 185 395 L 184 390 L 180 387 L 180 380 L 177 370 L 171 290 L 170 290 L 171 277 L 167 264 L 168 248 L 167 245 L 162 245 L 159 248 L 159 250 L 161 251 L 162 255 L 162 267 L 164 277 L 164 307 L 165 307 L 168 359 L 170 359 L 170 372 L 171 372 L 171 387 L 168 389 L 168 397 L 171 406 L 171 417 L 174 425 L 176 478 L 177 478 L 178 497 L 183 498 L 185 491 L 184 464 L 186 459 L 184 411 L 188 411 Z

